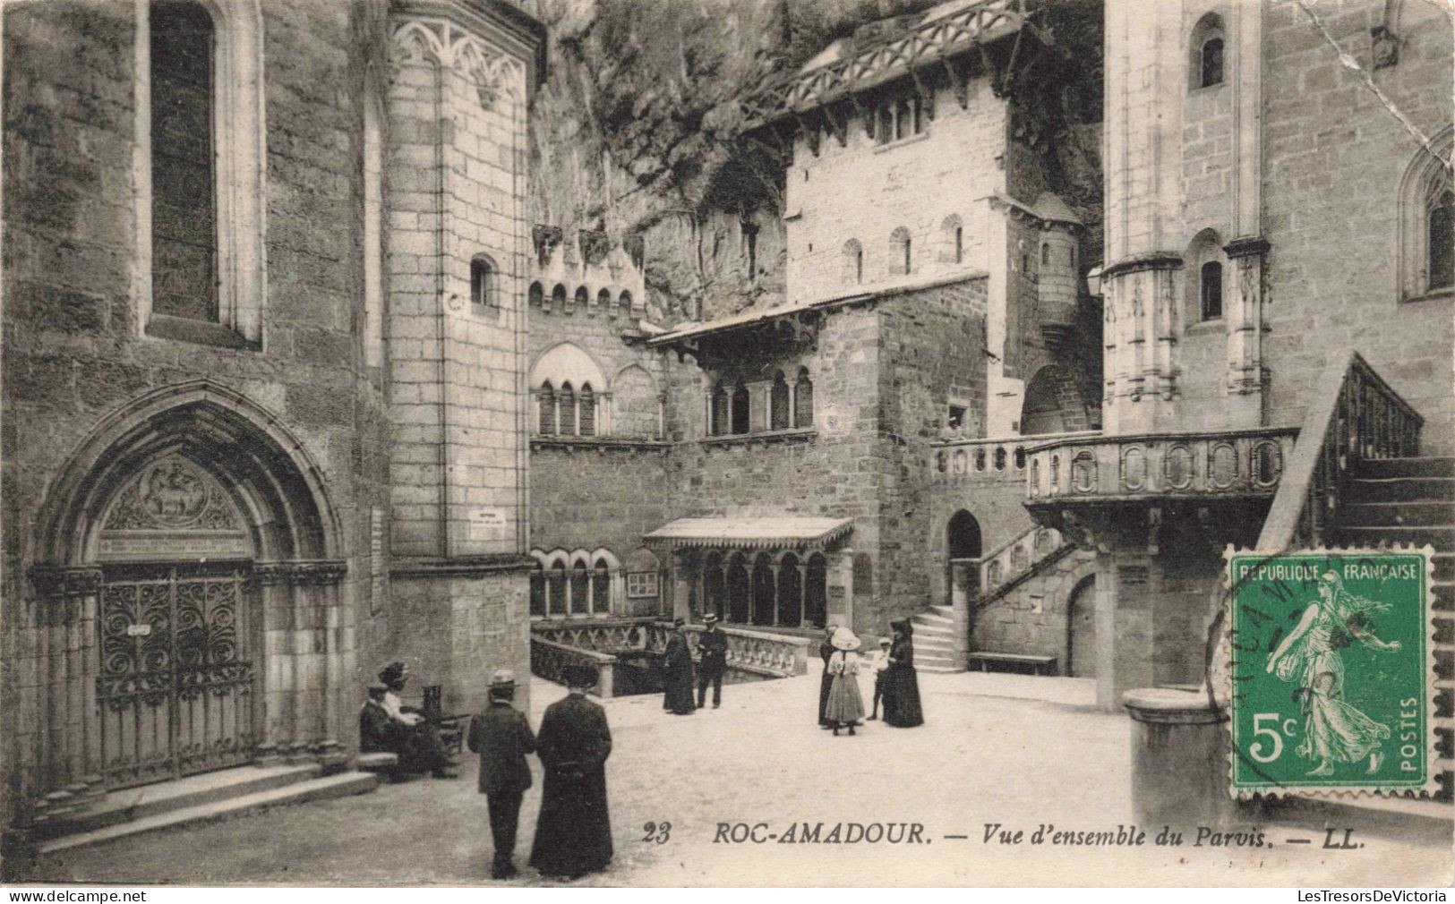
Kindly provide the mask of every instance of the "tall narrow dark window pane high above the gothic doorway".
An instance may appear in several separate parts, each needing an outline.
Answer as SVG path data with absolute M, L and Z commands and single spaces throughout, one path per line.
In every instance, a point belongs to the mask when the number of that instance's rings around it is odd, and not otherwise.
M 151 4 L 151 311 L 221 320 L 212 16 Z

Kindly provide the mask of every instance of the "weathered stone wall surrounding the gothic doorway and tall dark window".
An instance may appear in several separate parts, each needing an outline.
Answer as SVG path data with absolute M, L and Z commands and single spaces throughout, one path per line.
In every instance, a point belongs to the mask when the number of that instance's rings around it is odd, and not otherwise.
M 48 491 L 102 419 L 148 394 L 210 381 L 265 411 L 317 465 L 336 529 L 326 554 L 345 560 L 338 608 L 291 625 L 294 650 L 336 654 L 324 679 L 343 682 L 323 727 L 354 743 L 339 717 L 356 695 L 355 606 L 375 584 L 370 526 L 381 501 L 378 387 L 359 366 L 362 321 L 359 92 L 351 7 L 266 4 L 268 285 L 262 344 L 224 347 L 143 337 L 134 163 L 135 10 L 68 3 L 4 12 L 4 423 L 3 660 L 16 705 L 0 717 L 6 760 L 41 754 L 45 648 L 26 580 Z M 143 167 L 148 166 L 141 163 Z M 272 423 L 259 429 L 271 427 Z M 65 562 L 58 562 L 65 564 Z M 272 664 L 284 666 L 279 653 Z M 288 666 L 291 671 L 292 666 Z M 319 731 L 319 727 L 310 728 Z M 308 743 L 319 737 L 284 738 Z M 15 776 L 10 776 L 15 778 Z M 39 776 L 25 775 L 23 788 Z

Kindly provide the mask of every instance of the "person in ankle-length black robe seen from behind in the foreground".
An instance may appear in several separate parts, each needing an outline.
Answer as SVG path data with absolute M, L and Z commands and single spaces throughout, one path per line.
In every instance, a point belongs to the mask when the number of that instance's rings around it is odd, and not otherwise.
M 546 786 L 531 866 L 547 876 L 575 879 L 611 862 L 605 766 L 611 730 L 605 709 L 586 699 L 597 670 L 567 666 L 565 671 L 570 695 L 546 709 L 535 735 Z

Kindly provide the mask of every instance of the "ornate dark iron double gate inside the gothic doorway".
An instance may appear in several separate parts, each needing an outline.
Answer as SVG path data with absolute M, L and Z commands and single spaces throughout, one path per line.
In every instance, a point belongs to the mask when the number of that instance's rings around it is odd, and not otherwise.
M 252 757 L 247 573 L 240 562 L 106 568 L 96 702 L 108 786 Z

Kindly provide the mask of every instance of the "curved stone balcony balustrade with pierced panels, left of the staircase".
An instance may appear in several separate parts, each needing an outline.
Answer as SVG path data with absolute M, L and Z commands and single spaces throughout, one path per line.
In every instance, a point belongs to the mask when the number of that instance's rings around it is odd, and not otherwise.
M 1026 504 L 1273 496 L 1293 427 L 1059 439 L 1027 452 Z

